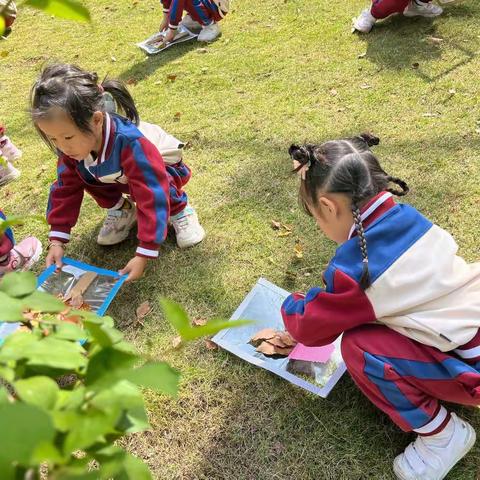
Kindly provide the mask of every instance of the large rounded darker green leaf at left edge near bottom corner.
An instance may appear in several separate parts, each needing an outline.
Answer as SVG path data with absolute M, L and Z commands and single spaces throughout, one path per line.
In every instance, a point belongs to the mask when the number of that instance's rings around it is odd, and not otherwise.
M 21 402 L 0 406 L 0 432 L 0 465 L 28 465 L 37 446 L 55 436 L 49 415 Z

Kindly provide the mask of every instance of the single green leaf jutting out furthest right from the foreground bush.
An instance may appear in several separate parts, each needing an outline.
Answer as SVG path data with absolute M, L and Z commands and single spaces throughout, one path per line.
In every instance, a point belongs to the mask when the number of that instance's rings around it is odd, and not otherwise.
M 176 396 L 180 374 L 168 363 L 147 362 L 141 367 L 127 372 L 124 378 L 140 387 L 151 388 L 156 392 Z

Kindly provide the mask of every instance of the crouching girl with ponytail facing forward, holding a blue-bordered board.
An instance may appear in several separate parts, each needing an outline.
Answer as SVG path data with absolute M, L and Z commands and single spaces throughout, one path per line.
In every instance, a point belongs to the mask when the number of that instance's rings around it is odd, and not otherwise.
M 99 84 L 96 74 L 57 64 L 42 72 L 31 98 L 35 127 L 58 154 L 58 178 L 47 210 L 51 227 L 47 266 L 61 267 L 85 192 L 108 209 L 99 244 L 125 240 L 138 223 L 135 257 L 121 270 L 129 280 L 142 275 L 147 259 L 158 257 L 169 224 L 181 248 L 203 239 L 205 232 L 183 190 L 190 178 L 182 161 L 183 144 L 160 127 L 139 122 L 123 84 L 116 80 Z M 126 118 L 107 113 L 113 110 L 109 103 L 121 107 Z

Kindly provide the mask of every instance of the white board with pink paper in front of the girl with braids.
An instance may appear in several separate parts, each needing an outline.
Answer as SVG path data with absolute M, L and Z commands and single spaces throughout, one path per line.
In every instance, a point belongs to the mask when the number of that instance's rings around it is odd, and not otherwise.
M 249 343 L 263 328 L 285 330 L 280 308 L 288 295 L 286 290 L 260 278 L 231 317 L 231 320 L 246 319 L 254 323 L 222 330 L 213 341 L 243 360 L 325 398 L 346 370 L 340 352 L 341 338 L 324 347 L 297 344 L 290 355 L 283 358 L 265 356 Z

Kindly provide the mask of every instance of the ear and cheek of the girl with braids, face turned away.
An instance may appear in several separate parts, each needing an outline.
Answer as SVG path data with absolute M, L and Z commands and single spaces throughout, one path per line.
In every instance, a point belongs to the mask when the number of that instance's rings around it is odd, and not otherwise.
M 318 203 L 309 207 L 320 230 L 334 242 L 348 240 L 353 225 L 351 200 L 341 193 L 319 193 Z

